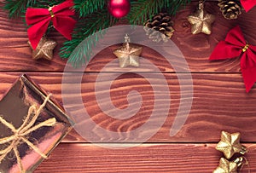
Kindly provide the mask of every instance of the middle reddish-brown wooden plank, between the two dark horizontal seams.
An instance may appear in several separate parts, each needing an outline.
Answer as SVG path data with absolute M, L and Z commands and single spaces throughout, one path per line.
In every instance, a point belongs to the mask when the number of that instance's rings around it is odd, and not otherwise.
M 31 78 L 47 91 L 53 93 L 57 101 L 62 101 L 61 95 L 61 73 L 38 73 L 29 72 Z M 100 86 L 109 84 L 109 78 L 116 73 L 103 73 L 104 78 L 98 82 Z M 18 78 L 20 72 L 0 72 L 0 97 L 6 92 L 11 84 Z M 143 105 L 139 112 L 127 120 L 110 118 L 106 113 L 103 113 L 98 106 L 95 95 L 95 84 L 97 73 L 85 73 L 82 80 L 82 99 L 84 107 L 89 112 L 91 118 L 96 124 L 101 124 L 104 129 L 111 131 L 131 131 L 137 129 L 142 124 L 148 121 L 154 108 L 154 93 L 152 86 L 148 81 L 133 73 L 127 73 L 117 78 L 110 91 L 111 99 L 115 107 L 124 108 L 128 106 L 126 96 L 129 91 L 135 89 L 143 96 Z M 150 80 L 156 81 L 160 87 L 163 85 L 161 81 L 150 74 Z M 256 89 L 255 87 L 246 93 L 242 82 L 241 74 L 207 74 L 195 73 L 192 74 L 194 84 L 193 104 L 186 124 L 179 130 L 176 136 L 169 136 L 174 118 L 177 116 L 177 110 L 180 104 L 180 85 L 177 80 L 177 74 L 166 73 L 165 78 L 170 89 L 171 105 L 166 122 L 160 130 L 148 142 L 216 142 L 219 139 L 221 130 L 230 132 L 241 132 L 241 140 L 247 142 L 256 141 Z M 76 78 L 76 77 L 73 77 Z M 80 94 L 73 90 L 77 84 L 72 84 L 72 79 L 69 78 L 71 84 L 70 94 L 64 95 L 73 99 L 73 105 L 70 106 L 74 110 L 79 111 L 79 103 L 76 96 Z M 189 80 L 183 79 L 185 84 L 189 84 Z M 189 88 L 187 88 L 189 89 Z M 187 90 L 187 94 L 191 90 Z M 103 93 L 108 93 L 108 90 L 102 90 Z M 186 94 L 185 94 L 186 96 Z M 104 101 L 105 98 L 102 98 Z M 162 111 L 166 106 L 158 111 Z M 109 110 L 111 111 L 111 110 Z M 159 115 L 160 116 L 160 115 Z M 158 118 L 155 117 L 155 121 Z M 152 129 L 154 130 L 154 129 Z M 108 137 L 106 137 L 108 138 Z M 64 141 L 81 141 L 81 138 L 74 131 L 71 132 Z

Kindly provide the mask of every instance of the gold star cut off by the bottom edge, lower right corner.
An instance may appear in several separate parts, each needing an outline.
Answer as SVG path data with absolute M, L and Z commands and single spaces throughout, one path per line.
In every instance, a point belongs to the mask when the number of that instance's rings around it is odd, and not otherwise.
M 213 173 L 237 173 L 237 167 L 236 162 L 221 158 L 218 167 L 213 170 Z

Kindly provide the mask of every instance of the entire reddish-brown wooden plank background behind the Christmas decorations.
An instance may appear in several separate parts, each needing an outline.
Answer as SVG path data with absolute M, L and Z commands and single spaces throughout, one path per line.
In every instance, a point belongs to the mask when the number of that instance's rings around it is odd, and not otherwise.
M 183 52 L 194 84 L 189 118 L 176 136 L 170 137 L 169 130 L 180 101 L 177 75 L 164 61 L 164 57 L 151 49 L 143 48 L 143 57 L 159 66 L 173 95 L 169 116 L 162 128 L 139 147 L 120 150 L 96 147 L 73 130 L 35 172 L 212 172 L 221 157 L 221 153 L 215 150 L 221 130 L 241 132 L 241 141 L 249 148 L 246 154 L 249 166 L 244 166 L 241 172 L 256 172 L 256 85 L 246 93 L 238 58 L 208 61 L 212 49 L 233 26 L 241 26 L 247 42 L 256 45 L 256 8 L 247 14 L 244 12 L 238 20 L 225 20 L 217 3 L 206 3 L 207 11 L 216 15 L 210 36 L 190 33 L 186 17 L 195 10 L 196 2 L 180 10 L 173 18 L 176 32 L 172 41 Z M 26 72 L 41 87 L 53 93 L 58 101 L 62 101 L 61 78 L 67 61 L 61 60 L 57 52 L 64 38 L 57 32 L 49 37 L 59 43 L 53 61 L 33 61 L 22 20 L 9 20 L 7 12 L 0 10 L 0 97 L 21 73 Z M 152 109 L 154 97 L 147 81 L 133 73 L 127 73 L 113 83 L 112 100 L 121 103 L 117 107 L 127 106 L 125 98 L 132 89 L 137 89 L 143 95 L 143 108 L 127 122 L 108 118 L 102 113 L 96 105 L 93 91 L 98 72 L 115 58 L 112 51 L 117 47 L 118 45 L 113 45 L 102 50 L 84 72 L 84 106 L 103 128 L 113 131 L 131 130 L 145 123 L 150 116 L 148 110 Z M 110 69 L 106 75 L 114 73 L 114 69 Z

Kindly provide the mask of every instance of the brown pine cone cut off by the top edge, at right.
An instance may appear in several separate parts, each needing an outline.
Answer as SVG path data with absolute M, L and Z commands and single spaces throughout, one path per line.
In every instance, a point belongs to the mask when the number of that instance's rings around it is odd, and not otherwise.
M 240 0 L 218 0 L 218 7 L 227 20 L 237 19 L 241 14 Z

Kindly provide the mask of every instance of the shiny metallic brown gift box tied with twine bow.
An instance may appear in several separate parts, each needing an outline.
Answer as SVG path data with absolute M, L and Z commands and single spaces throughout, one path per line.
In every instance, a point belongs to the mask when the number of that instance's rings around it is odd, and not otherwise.
M 72 125 L 63 107 L 20 76 L 0 101 L 0 172 L 32 172 Z

